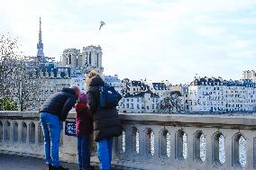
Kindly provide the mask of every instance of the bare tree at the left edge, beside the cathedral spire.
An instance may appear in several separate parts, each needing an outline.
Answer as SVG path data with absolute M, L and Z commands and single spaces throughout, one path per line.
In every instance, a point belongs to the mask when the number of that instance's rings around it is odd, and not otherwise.
M 20 110 L 27 110 L 38 93 L 38 65 L 28 65 L 19 50 L 17 40 L 0 35 L 0 98 L 12 98 Z

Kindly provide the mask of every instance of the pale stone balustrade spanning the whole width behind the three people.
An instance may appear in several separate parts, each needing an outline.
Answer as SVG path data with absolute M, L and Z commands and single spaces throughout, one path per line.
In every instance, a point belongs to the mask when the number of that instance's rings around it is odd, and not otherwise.
M 69 120 L 74 118 L 69 114 Z M 124 130 L 123 136 L 114 139 L 114 166 L 256 169 L 256 117 L 120 114 L 120 118 Z M 0 112 L 0 142 L 2 153 L 43 157 L 38 113 Z M 62 160 L 76 162 L 76 143 L 76 138 L 62 135 Z M 98 162 L 96 157 L 92 161 Z

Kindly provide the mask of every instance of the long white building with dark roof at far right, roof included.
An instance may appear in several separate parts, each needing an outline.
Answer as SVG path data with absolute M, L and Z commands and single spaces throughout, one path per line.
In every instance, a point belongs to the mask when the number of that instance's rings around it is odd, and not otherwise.
M 253 112 L 256 85 L 251 80 L 196 78 L 188 86 L 189 112 Z

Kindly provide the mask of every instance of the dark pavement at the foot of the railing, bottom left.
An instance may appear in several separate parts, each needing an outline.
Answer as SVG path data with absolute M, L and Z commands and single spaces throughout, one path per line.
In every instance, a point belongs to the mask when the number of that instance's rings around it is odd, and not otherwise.
M 70 170 L 77 170 L 76 165 L 62 164 Z M 32 157 L 19 157 L 0 154 L 0 170 L 47 170 L 44 160 Z

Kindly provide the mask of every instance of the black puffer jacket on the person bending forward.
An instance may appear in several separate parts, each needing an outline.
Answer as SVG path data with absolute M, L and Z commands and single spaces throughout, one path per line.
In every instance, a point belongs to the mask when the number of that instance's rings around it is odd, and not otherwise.
M 49 112 L 59 116 L 60 121 L 65 121 L 69 111 L 77 103 L 77 95 L 74 89 L 63 88 L 61 92 L 51 94 L 42 104 L 40 112 Z

